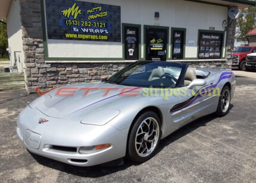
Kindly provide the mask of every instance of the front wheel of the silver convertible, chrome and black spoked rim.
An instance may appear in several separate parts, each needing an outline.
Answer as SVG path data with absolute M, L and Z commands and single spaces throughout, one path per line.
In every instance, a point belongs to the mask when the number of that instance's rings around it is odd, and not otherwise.
M 151 159 L 161 137 L 161 123 L 157 114 L 147 111 L 141 114 L 130 130 L 127 141 L 127 158 L 142 163 Z

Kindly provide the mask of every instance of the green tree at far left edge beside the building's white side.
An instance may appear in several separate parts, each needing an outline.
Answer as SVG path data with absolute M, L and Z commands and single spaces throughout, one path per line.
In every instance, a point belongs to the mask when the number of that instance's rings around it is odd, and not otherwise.
M 7 37 L 7 25 L 6 20 L 1 20 L 0 22 L 0 57 L 8 57 L 7 47 L 8 47 L 8 37 Z

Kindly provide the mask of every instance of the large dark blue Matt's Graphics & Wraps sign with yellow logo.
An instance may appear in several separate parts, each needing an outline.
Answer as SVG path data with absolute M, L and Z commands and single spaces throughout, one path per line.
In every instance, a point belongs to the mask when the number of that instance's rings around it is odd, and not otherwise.
M 48 39 L 121 42 L 119 6 L 45 0 Z

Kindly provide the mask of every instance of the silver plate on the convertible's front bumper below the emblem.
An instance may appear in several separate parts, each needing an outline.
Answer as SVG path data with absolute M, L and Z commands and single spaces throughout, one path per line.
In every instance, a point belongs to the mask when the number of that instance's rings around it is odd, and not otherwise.
M 33 149 L 39 149 L 41 143 L 41 136 L 33 131 L 26 130 L 24 134 L 24 143 Z

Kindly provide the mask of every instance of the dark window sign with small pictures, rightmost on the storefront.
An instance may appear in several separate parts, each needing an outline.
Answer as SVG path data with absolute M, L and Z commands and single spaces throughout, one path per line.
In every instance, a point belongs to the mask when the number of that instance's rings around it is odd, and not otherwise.
M 220 59 L 223 33 L 199 32 L 199 59 Z

